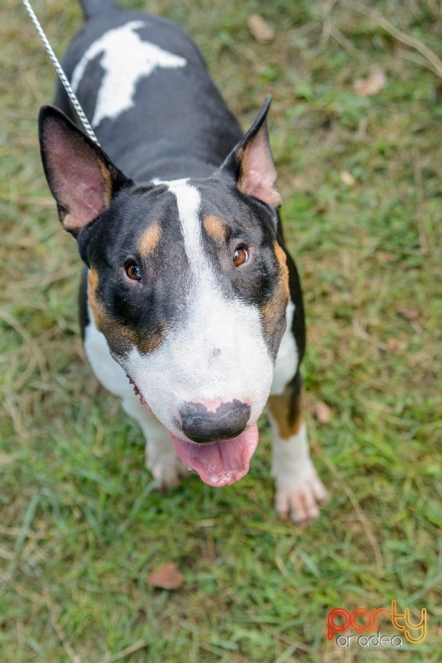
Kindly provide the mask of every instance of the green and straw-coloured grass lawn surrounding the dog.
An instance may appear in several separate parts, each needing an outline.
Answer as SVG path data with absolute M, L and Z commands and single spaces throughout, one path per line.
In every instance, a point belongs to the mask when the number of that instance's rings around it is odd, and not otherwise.
M 34 5 L 61 54 L 80 24 L 76 3 Z M 309 416 L 331 497 L 305 530 L 274 515 L 265 420 L 240 483 L 215 490 L 189 476 L 169 494 L 153 490 L 140 432 L 84 359 L 79 259 L 57 227 L 37 148 L 37 109 L 55 75 L 19 0 L 4 0 L 1 662 L 436 663 L 439 3 L 155 0 L 149 9 L 191 32 L 244 126 L 273 94 L 285 228 L 307 306 L 305 385 L 332 412 L 328 424 Z M 247 28 L 257 11 L 276 29 L 272 44 Z M 354 81 L 373 67 L 387 85 L 361 97 Z M 148 586 L 169 560 L 182 589 Z M 427 609 L 423 644 L 392 652 L 327 640 L 332 608 L 392 599 L 414 617 Z M 381 630 L 394 633 L 386 622 Z

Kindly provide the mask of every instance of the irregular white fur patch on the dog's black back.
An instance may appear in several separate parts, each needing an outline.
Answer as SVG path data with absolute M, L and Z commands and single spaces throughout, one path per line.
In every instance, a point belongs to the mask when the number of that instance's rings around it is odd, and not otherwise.
M 105 117 L 115 119 L 131 108 L 135 88 L 142 77 L 150 76 L 158 67 L 176 69 L 186 66 L 184 57 L 142 41 L 135 30 L 144 25 L 144 21 L 129 21 L 124 26 L 108 30 L 89 46 L 75 67 L 71 85 L 76 91 L 88 63 L 103 54 L 100 65 L 104 76 L 98 90 L 93 126 Z

